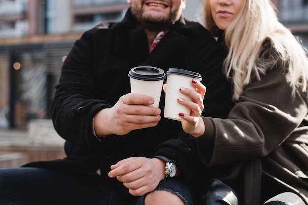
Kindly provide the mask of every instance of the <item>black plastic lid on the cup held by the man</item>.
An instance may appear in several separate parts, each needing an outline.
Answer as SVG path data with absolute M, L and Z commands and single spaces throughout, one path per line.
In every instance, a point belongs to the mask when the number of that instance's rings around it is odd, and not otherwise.
M 128 76 L 138 80 L 159 81 L 166 77 L 165 71 L 161 68 L 151 66 L 139 66 L 132 68 Z

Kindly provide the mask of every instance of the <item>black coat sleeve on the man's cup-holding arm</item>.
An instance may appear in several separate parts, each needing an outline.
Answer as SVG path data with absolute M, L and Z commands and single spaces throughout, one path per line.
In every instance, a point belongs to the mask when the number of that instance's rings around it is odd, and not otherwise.
M 77 40 L 61 70 L 59 84 L 51 104 L 54 127 L 67 141 L 78 145 L 94 145 L 98 140 L 92 134 L 92 119 L 110 105 L 95 99 L 92 32 L 87 31 Z

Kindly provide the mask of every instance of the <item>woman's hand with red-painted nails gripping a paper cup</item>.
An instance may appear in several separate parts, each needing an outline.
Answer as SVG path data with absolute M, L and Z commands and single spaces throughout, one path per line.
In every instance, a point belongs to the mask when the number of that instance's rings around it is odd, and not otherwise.
M 187 95 L 192 101 L 186 100 L 184 98 L 178 98 L 178 103 L 190 108 L 190 115 L 184 113 L 179 113 L 179 116 L 185 121 L 181 121 L 183 130 L 192 135 L 193 137 L 201 136 L 205 131 L 204 122 L 201 113 L 204 109 L 203 98 L 205 96 L 206 87 L 199 81 L 191 81 L 195 90 L 188 88 L 179 88 L 179 92 Z M 163 85 L 163 90 L 166 91 L 166 84 Z

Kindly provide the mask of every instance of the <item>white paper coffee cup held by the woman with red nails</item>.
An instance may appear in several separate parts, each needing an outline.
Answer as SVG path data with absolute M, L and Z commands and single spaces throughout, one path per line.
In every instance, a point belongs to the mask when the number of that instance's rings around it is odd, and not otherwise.
M 179 113 L 190 115 L 190 109 L 178 103 L 178 98 L 183 98 L 192 101 L 187 95 L 180 93 L 179 88 L 195 88 L 191 84 L 191 80 L 201 81 L 202 77 L 199 73 L 178 68 L 170 68 L 167 72 L 167 88 L 165 99 L 164 117 L 168 119 L 184 121 L 179 116 Z

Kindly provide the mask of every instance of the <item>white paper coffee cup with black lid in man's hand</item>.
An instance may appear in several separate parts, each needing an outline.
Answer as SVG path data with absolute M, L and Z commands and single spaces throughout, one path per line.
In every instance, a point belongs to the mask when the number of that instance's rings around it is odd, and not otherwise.
M 166 78 L 164 70 L 151 66 L 139 66 L 132 68 L 128 76 L 131 93 L 153 97 L 154 104 L 151 106 L 158 107 L 163 81 Z

